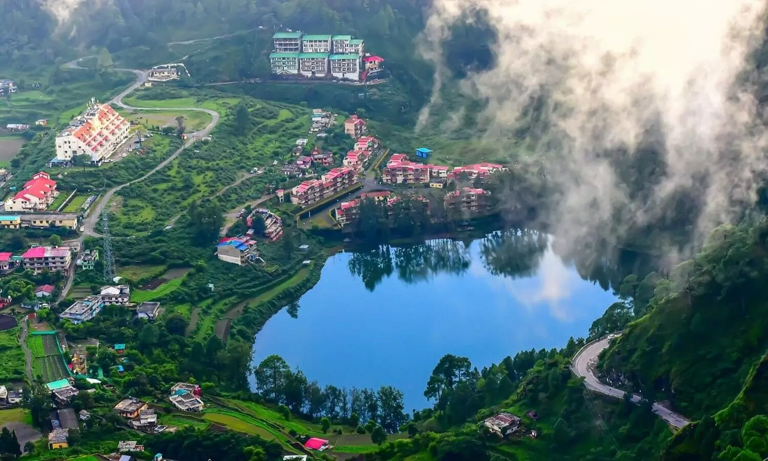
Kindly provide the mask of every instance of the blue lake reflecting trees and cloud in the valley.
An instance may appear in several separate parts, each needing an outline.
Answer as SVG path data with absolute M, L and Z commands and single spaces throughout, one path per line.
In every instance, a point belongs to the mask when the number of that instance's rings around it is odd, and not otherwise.
M 326 261 L 296 318 L 283 309 L 267 321 L 253 367 L 277 354 L 321 386 L 396 386 L 409 412 L 429 406 L 423 392 L 446 353 L 479 369 L 586 337 L 617 299 L 610 285 L 584 280 L 548 236 L 526 230 L 343 252 Z

